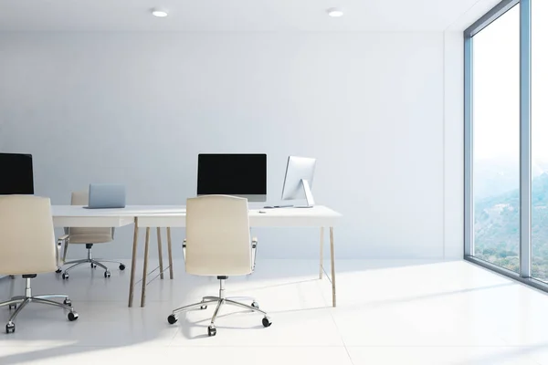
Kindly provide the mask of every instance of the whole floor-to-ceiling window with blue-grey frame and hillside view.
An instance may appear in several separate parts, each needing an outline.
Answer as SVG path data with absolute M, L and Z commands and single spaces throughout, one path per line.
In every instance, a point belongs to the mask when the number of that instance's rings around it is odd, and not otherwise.
M 548 291 L 548 1 L 502 0 L 464 37 L 465 258 Z

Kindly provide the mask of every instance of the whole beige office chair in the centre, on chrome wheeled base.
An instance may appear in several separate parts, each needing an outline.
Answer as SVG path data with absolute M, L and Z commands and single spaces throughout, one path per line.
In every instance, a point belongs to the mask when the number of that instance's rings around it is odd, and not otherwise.
M 216 305 L 209 336 L 216 335 L 215 320 L 224 305 L 249 309 L 262 313 L 262 324 L 269 327 L 272 322 L 267 313 L 258 308 L 253 298 L 251 304 L 237 302 L 225 296 L 225 281 L 228 276 L 251 274 L 257 240 L 249 235 L 248 200 L 227 195 L 207 195 L 186 201 L 186 239 L 183 253 L 186 272 L 198 276 L 216 276 L 219 279 L 218 297 L 203 297 L 201 302 L 174 309 L 167 318 L 170 324 L 177 321 L 183 311 Z

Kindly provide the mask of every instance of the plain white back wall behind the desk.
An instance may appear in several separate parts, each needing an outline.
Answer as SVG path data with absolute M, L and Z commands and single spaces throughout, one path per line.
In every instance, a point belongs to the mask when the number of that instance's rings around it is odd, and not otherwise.
M 448 141 L 458 117 L 447 110 L 444 81 L 457 82 L 447 41 L 441 32 L 0 34 L 3 150 L 34 154 L 36 191 L 53 203 L 90 182 L 125 183 L 128 203 L 184 203 L 199 152 L 268 153 L 277 203 L 287 156 L 315 156 L 316 201 L 344 214 L 338 258 L 453 257 L 461 222 L 444 191 L 458 193 L 446 162 L 460 147 Z M 256 234 L 262 257 L 319 248 L 316 230 Z M 121 228 L 100 254 L 129 257 L 131 236 Z

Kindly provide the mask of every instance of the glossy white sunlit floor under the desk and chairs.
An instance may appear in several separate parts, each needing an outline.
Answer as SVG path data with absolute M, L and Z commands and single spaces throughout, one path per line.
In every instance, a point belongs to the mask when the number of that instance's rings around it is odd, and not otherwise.
M 68 281 L 39 276 L 34 294 L 67 293 L 79 320 L 27 307 L 15 334 L 0 333 L 0 364 L 548 364 L 543 293 L 462 261 L 337 265 L 337 308 L 313 261 L 263 260 L 252 276 L 230 278 L 227 294 L 257 297 L 273 325 L 225 311 L 214 338 L 206 336 L 211 308 L 167 324 L 173 308 L 217 290 L 215 279 L 185 275 L 182 262 L 174 280 L 151 282 L 146 308 L 138 300 L 127 308 L 127 270 L 113 268 L 109 279 L 84 266 Z M 0 298 L 22 286 L 21 278 L 0 281 Z M 2 328 L 8 313 L 0 308 Z

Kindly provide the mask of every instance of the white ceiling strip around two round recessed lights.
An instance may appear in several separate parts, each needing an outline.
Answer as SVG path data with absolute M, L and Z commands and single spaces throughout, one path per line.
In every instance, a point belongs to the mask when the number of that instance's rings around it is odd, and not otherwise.
M 0 0 L 0 31 L 442 31 L 494 0 Z M 156 18 L 162 6 L 170 16 Z M 341 6 L 341 18 L 325 9 Z M 455 29 L 455 28 L 458 29 Z M 459 29 L 462 28 L 462 29 Z

